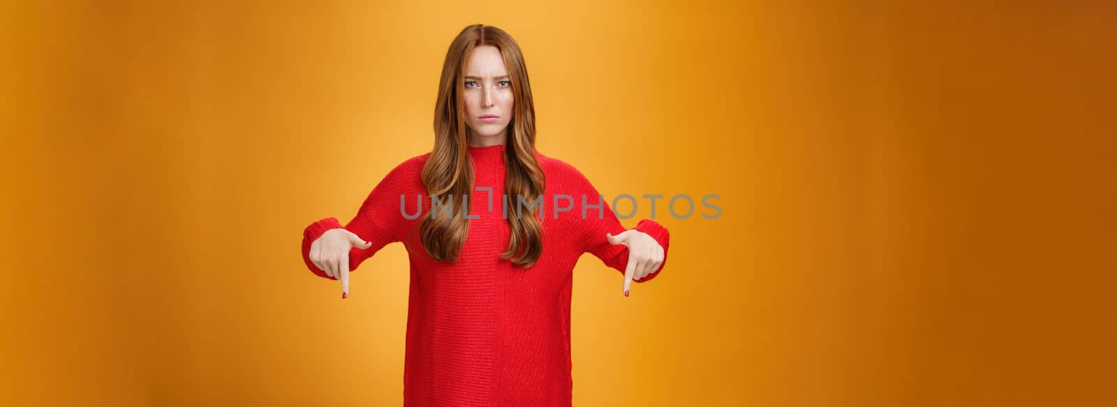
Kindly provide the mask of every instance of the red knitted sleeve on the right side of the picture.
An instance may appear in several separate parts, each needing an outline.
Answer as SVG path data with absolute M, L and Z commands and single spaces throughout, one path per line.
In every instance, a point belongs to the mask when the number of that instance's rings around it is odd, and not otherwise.
M 577 189 L 585 191 L 585 204 L 589 206 L 595 206 L 600 202 L 601 205 L 601 210 L 598 210 L 595 207 L 588 209 L 585 218 L 580 221 L 583 226 L 581 230 L 583 253 L 589 252 L 593 254 L 609 267 L 624 274 L 624 267 L 628 265 L 628 246 L 613 245 L 609 243 L 605 234 L 609 233 L 617 235 L 627 229 L 621 225 L 617 215 L 613 214 L 608 200 L 601 197 L 598 192 L 598 189 L 594 188 L 584 176 L 576 172 L 576 170 L 574 171 L 574 174 L 577 178 L 575 179 L 575 182 L 581 184 Z M 576 199 L 581 199 L 581 197 Z M 668 250 L 668 246 L 670 245 L 670 234 L 667 231 L 666 227 L 652 219 L 640 220 L 637 223 L 634 229 L 648 234 L 663 247 L 663 263 L 659 265 L 659 268 L 656 268 L 651 274 L 648 274 L 648 276 L 641 280 L 636 280 L 636 282 L 643 283 L 659 275 L 659 271 L 663 269 L 667 265 L 667 255 L 670 253 Z

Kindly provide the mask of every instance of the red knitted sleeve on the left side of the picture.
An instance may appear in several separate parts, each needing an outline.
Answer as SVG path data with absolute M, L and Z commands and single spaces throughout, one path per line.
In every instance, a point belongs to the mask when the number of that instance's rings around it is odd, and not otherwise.
M 314 262 L 311 262 L 311 245 L 326 230 L 345 228 L 372 244 L 366 249 L 356 247 L 350 249 L 350 271 L 356 269 L 362 262 L 372 257 L 389 243 L 400 242 L 395 229 L 398 229 L 399 220 L 402 217 L 399 202 L 400 195 L 409 181 L 409 169 L 405 168 L 409 163 L 405 162 L 389 172 L 372 189 L 356 215 L 344 226 L 338 223 L 337 218 L 330 217 L 312 223 L 303 230 L 303 262 L 306 263 L 306 267 L 312 273 L 323 278 L 336 280 L 327 276 L 324 271 L 314 265 Z

